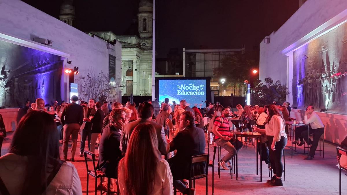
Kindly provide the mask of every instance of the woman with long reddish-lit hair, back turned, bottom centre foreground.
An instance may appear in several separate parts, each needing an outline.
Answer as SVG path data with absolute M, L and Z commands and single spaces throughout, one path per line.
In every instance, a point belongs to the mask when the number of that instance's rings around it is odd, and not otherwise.
M 153 125 L 142 123 L 130 136 L 125 157 L 118 165 L 120 193 L 124 195 L 172 195 L 169 163 L 160 159 Z

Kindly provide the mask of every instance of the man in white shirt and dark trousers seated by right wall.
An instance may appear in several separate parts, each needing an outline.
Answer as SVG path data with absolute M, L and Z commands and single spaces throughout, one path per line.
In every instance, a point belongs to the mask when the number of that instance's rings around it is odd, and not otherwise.
M 310 134 L 313 134 L 313 141 L 311 141 L 311 139 L 307 137 L 306 126 L 297 127 L 295 129 L 295 142 L 298 143 L 297 137 L 299 137 L 301 141 L 304 138 L 306 143 L 311 145 L 310 153 L 304 160 L 312 160 L 314 152 L 317 149 L 319 139 L 324 134 L 324 125 L 319 116 L 314 112 L 314 107 L 311 105 L 306 109 L 304 120 L 299 121 L 298 123 L 308 124 L 308 131 Z

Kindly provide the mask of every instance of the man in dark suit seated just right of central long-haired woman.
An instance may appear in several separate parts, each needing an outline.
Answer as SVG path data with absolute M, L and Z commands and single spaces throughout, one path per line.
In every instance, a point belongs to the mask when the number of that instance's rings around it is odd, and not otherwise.
M 174 186 L 183 194 L 189 194 L 192 189 L 187 188 L 182 180 L 189 178 L 192 156 L 205 153 L 205 134 L 204 130 L 195 126 L 192 112 L 183 112 L 179 120 L 179 127 L 183 130 L 170 142 L 169 151 L 177 150 L 177 153 L 168 159 L 168 163 L 174 179 Z M 171 133 L 173 134 L 173 132 Z M 197 164 L 193 167 L 194 172 L 196 174 L 205 173 L 205 166 L 205 163 Z

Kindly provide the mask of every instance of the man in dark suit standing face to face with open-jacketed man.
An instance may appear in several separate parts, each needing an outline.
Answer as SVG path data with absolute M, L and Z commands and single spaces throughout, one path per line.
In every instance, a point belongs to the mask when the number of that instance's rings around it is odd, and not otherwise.
M 105 113 L 101 110 L 101 103 L 95 103 L 95 114 L 91 117 L 92 122 L 92 138 L 90 140 L 90 151 L 95 152 L 95 143 L 99 137 L 101 137 L 102 121 L 105 118 Z M 96 157 L 98 155 L 95 155 Z

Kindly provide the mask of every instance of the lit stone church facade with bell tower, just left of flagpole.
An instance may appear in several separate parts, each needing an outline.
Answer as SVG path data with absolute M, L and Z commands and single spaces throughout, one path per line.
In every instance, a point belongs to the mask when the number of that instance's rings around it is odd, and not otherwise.
M 153 2 L 139 2 L 137 21 L 132 27 L 137 31 L 130 35 L 116 35 L 112 32 L 89 32 L 110 42 L 122 43 L 121 77 L 123 95 L 150 96 L 152 93 L 152 42 L 153 42 Z M 132 28 L 130 27 L 130 28 Z

